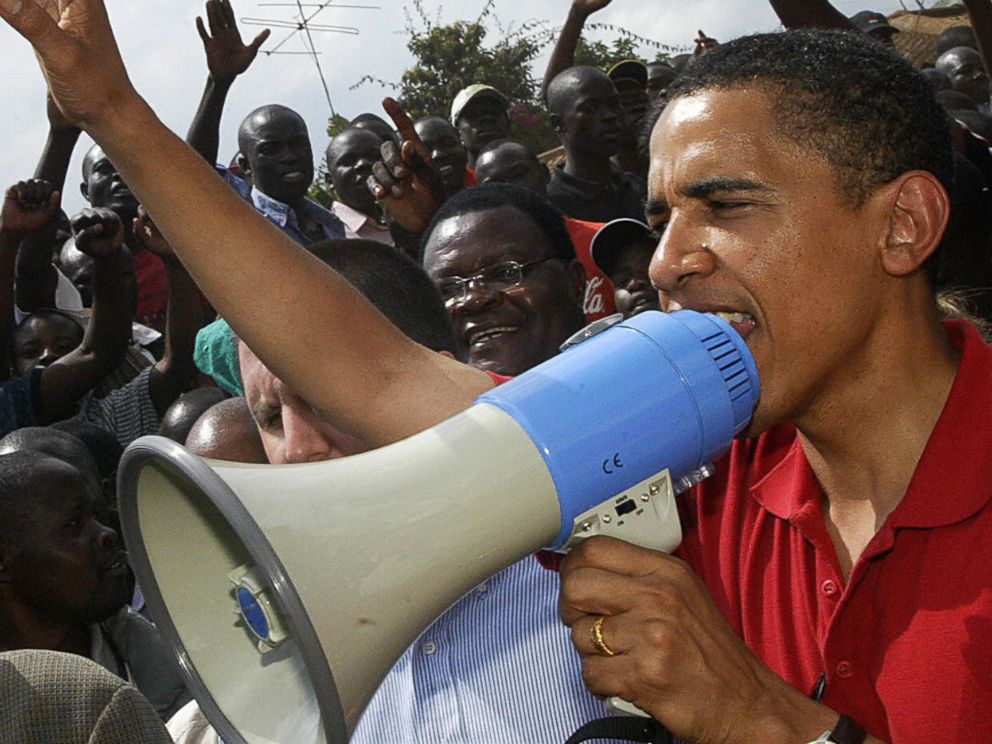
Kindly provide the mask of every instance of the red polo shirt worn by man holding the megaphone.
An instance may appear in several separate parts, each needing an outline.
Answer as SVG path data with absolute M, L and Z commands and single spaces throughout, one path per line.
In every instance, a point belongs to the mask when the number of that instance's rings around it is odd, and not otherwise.
M 792 427 L 737 441 L 681 504 L 680 555 L 747 645 L 881 739 L 992 740 L 992 348 L 962 352 L 906 495 L 845 585 Z M 906 360 L 911 364 L 912 360 Z

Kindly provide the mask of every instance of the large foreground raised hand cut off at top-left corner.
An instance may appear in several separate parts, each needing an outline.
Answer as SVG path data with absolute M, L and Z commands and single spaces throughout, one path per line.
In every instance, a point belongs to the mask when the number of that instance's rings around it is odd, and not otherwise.
M 0 17 L 34 46 L 55 103 L 75 126 L 92 131 L 140 101 L 102 0 L 0 0 Z

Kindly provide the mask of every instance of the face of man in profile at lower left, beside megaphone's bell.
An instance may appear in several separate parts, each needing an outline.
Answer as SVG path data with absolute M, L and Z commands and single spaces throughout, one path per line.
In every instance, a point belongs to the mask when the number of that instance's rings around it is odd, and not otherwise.
M 93 496 L 71 465 L 48 459 L 29 477 L 34 508 L 5 546 L 11 596 L 52 622 L 106 620 L 130 596 L 117 533 L 96 520 Z

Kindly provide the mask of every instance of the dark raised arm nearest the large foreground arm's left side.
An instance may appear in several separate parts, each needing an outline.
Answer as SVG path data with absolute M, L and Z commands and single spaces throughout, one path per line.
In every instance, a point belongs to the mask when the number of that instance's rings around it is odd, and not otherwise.
M 149 396 L 155 411 L 162 417 L 176 398 L 189 390 L 190 382 L 197 374 L 193 347 L 196 345 L 197 331 L 206 324 L 208 317 L 196 282 L 144 209 L 139 208 L 138 216 L 134 218 L 134 234 L 146 251 L 162 259 L 169 281 L 165 353 L 148 379 Z

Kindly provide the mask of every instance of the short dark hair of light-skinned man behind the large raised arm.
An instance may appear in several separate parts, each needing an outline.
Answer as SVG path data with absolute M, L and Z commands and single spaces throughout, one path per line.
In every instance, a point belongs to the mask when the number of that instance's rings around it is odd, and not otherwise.
M 455 332 L 441 293 L 414 261 L 374 240 L 325 240 L 307 250 L 418 344 L 455 353 Z

